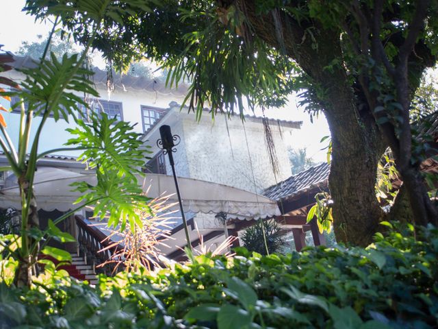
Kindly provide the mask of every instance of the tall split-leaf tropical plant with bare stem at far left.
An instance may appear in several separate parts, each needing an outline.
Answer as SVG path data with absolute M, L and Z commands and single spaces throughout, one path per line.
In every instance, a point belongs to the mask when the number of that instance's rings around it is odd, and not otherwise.
M 33 3 L 36 5 L 36 3 Z M 44 7 L 47 1 L 39 1 L 38 5 Z M 32 4 L 29 5 L 31 8 Z M 133 10 L 144 10 L 144 1 L 77 1 L 74 3 L 58 3 L 50 6 L 47 15 L 53 14 L 57 18 L 53 29 L 42 53 L 34 68 L 20 69 L 25 79 L 16 84 L 5 78 L 0 83 L 10 87 L 10 90 L 0 90 L 0 96 L 10 100 L 11 97 L 20 99 L 12 106 L 21 109 L 20 127 L 18 129 L 18 145 L 15 147 L 6 130 L 6 124 L 1 117 L 0 121 L 0 147 L 8 159 L 8 166 L 1 167 L 2 171 L 9 170 L 18 178 L 21 194 L 21 230 L 17 236 L 6 236 L 1 241 L 2 249 L 9 252 L 14 260 L 18 261 L 14 282 L 18 286 L 30 285 L 32 274 L 36 274 L 36 261 L 40 251 L 49 254 L 57 260 L 68 260 L 70 255 L 60 249 L 45 247 L 52 236 L 57 236 L 62 242 L 74 241 L 73 236 L 61 232 L 56 223 L 72 215 L 83 206 L 95 205 L 94 215 L 105 216 L 108 214 L 109 224 L 125 228 L 126 223 L 133 228 L 135 223 L 141 223 L 135 210 L 150 211 L 147 197 L 142 195 L 142 188 L 138 185 L 135 173 L 140 174 L 137 165 L 144 163 L 144 151 L 140 151 L 138 134 L 132 132 L 133 127 L 125 122 L 116 123 L 115 119 L 102 114 L 101 117 L 92 117 L 92 123 L 87 125 L 78 119 L 82 108 L 88 104 L 79 95 L 98 96 L 88 79 L 92 71 L 84 68 L 88 49 L 90 49 L 96 32 L 99 31 L 105 19 L 116 14 L 127 14 Z M 68 14 L 66 14 L 68 13 Z M 49 45 L 57 23 L 59 14 L 82 15 L 86 19 L 88 42 L 81 54 L 57 58 L 49 54 Z M 39 18 L 44 15 L 37 15 Z M 64 16 L 65 18 L 65 16 Z M 9 54 L 1 55 L 1 71 L 11 69 L 5 62 L 10 61 Z M 2 108 L 5 110 L 4 108 Z M 41 119 L 32 127 L 34 116 Z M 40 134 L 49 117 L 55 121 L 60 119 L 74 119 L 79 127 L 71 130 L 77 134 L 68 142 L 70 147 L 53 149 L 44 153 L 38 152 Z M 34 140 L 30 140 L 30 132 L 35 129 Z M 29 145 L 30 144 L 30 145 Z M 33 184 L 38 160 L 44 155 L 67 149 L 81 149 L 81 159 L 89 161 L 96 169 L 97 184 L 92 186 L 78 183 L 76 188 L 86 193 L 79 198 L 77 208 L 66 214 L 49 221 L 49 227 L 42 231 L 38 219 L 38 204 L 34 195 Z

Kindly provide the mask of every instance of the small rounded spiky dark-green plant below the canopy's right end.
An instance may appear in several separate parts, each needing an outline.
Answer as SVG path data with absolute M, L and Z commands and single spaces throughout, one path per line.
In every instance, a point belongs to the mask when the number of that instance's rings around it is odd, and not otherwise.
M 259 219 L 255 225 L 244 230 L 240 239 L 244 246 L 251 252 L 257 252 L 261 255 L 281 252 L 281 249 L 287 245 L 285 232 L 282 232 L 281 226 L 274 219 L 263 221 Z M 264 243 L 263 230 L 266 237 Z M 266 250 L 268 249 L 268 251 Z

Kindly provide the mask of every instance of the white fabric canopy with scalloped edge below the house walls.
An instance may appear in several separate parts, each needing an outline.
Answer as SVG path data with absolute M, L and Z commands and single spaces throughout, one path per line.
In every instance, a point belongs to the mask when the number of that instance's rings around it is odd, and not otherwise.
M 140 178 L 142 179 L 142 178 Z M 82 174 L 55 167 L 40 167 L 36 172 L 34 190 L 38 208 L 52 211 L 66 211 L 80 196 L 72 191 L 70 184 L 86 181 L 96 184 L 94 173 Z M 141 181 L 140 181 L 141 182 Z M 259 219 L 280 215 L 276 202 L 239 188 L 223 184 L 178 178 L 185 212 L 226 212 L 229 218 Z M 177 202 L 175 182 L 172 176 L 148 173 L 144 179 L 144 190 L 149 188 L 149 197 L 170 195 L 170 202 Z M 21 208 L 20 192 L 16 180 L 8 179 L 0 190 L 0 208 Z

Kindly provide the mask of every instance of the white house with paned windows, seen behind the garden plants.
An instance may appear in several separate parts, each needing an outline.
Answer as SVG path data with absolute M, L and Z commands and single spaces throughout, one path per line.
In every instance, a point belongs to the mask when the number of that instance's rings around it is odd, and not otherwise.
M 16 67 L 32 66 L 34 62 L 28 57 L 16 57 L 14 65 Z M 184 85 L 176 90 L 166 88 L 163 82 L 148 80 L 144 77 L 114 75 L 114 90 L 108 94 L 107 73 L 99 69 L 94 69 L 94 71 L 94 84 L 100 97 L 88 99 L 88 101 L 96 111 L 104 111 L 120 120 L 136 123 L 136 132 L 143 134 L 142 140 L 146 145 L 150 145 L 153 151 L 153 158 L 149 161 L 148 168 L 144 169 L 146 172 L 171 175 L 168 161 L 157 147 L 157 140 L 160 138 L 159 127 L 170 125 L 172 134 L 178 134 L 181 138 L 181 143 L 177 145 L 177 151 L 174 154 L 176 172 L 180 178 L 216 183 L 211 186 L 216 186 L 217 191 L 222 191 L 220 187 L 222 185 L 239 188 L 253 193 L 255 200 L 261 200 L 263 199 L 260 195 L 261 191 L 289 177 L 290 164 L 287 158 L 287 147 L 292 145 L 294 130 L 300 129 L 300 122 L 266 119 L 275 146 L 274 153 L 278 165 L 278 170 L 274 175 L 270 154 L 266 147 L 266 122 L 263 125 L 263 118 L 248 115 L 244 121 L 238 116 L 227 120 L 224 115 L 218 114 L 216 119 L 212 120 L 211 115 L 205 111 L 201 120 L 196 121 L 193 113 L 188 113 L 185 108 L 181 110 L 179 106 L 187 90 Z M 13 80 L 23 79 L 23 75 L 17 71 L 8 71 L 3 74 Z M 11 105 L 4 99 L 1 100 L 1 104 L 5 108 L 10 108 Z M 10 112 L 4 114 L 4 117 L 8 123 L 8 132 L 16 143 L 19 114 Z M 38 117 L 35 121 L 38 123 Z M 54 119 L 49 118 L 40 138 L 39 151 L 62 147 L 70 138 L 68 132 L 65 131 L 66 128 L 74 126 L 73 120 L 67 123 L 63 119 L 55 122 Z M 87 173 L 85 166 L 74 160 L 74 157 L 78 155 L 77 152 L 64 151 L 60 154 L 47 156 L 41 160 L 39 167 L 66 169 L 80 175 Z M 5 162 L 4 157 L 0 156 L 0 162 Z M 186 186 L 190 186 L 190 180 L 185 182 Z M 6 183 L 13 184 L 12 178 L 8 180 L 3 177 L 3 184 Z M 231 194 L 237 193 L 236 189 L 228 191 Z M 168 191 L 168 193 L 173 192 Z M 183 199 L 184 193 L 185 191 L 181 188 Z M 197 236 L 196 226 L 201 234 L 211 235 L 210 243 L 215 243 L 215 239 L 216 242 L 223 240 L 223 227 L 218 227 L 214 218 L 215 213 L 195 216 L 194 212 L 189 211 L 187 215 L 192 223 L 191 235 L 194 240 Z M 73 219 L 70 224 L 74 224 Z M 181 226 L 176 225 L 173 236 L 176 240 L 170 243 L 170 250 L 163 250 L 165 254 L 175 253 L 177 246 L 183 245 Z

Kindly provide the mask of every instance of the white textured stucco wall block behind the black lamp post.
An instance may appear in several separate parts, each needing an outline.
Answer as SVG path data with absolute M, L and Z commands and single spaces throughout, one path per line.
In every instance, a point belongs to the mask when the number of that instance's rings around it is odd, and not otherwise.
M 179 107 L 173 107 L 148 134 L 149 141 L 146 144 L 151 145 L 153 154 L 156 154 L 159 151 L 155 146 L 159 138 L 159 125 L 170 125 L 172 134 L 181 136 L 181 144 L 174 154 L 177 175 L 181 177 L 226 184 L 252 192 L 257 189 L 257 193 L 260 193 L 264 188 L 290 176 L 287 148 L 292 145 L 294 132 L 298 131 L 296 128 L 271 125 L 280 169 L 279 175 L 275 177 L 261 119 L 246 119 L 242 123 L 240 117 L 233 117 L 227 123 L 229 132 L 222 115 L 212 121 L 206 113 L 197 122 L 194 114 L 184 110 L 180 112 Z M 170 174 L 167 158 L 166 165 L 167 173 Z

